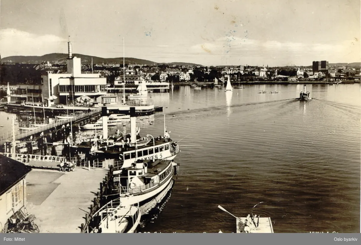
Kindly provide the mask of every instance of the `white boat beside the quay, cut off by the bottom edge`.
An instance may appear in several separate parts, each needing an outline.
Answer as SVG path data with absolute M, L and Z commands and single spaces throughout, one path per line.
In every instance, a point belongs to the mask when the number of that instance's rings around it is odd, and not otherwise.
M 93 216 L 90 233 L 134 233 L 139 226 L 142 213 L 139 205 L 123 205 L 120 198 L 101 207 Z

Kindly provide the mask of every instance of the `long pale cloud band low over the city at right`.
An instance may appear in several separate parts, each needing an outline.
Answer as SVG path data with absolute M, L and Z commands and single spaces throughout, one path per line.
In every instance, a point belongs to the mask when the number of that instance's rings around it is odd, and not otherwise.
M 236 36 L 224 36 L 213 42 L 193 45 L 190 53 L 199 58 L 207 57 L 207 64 L 253 64 L 270 65 L 299 64 L 310 65 L 313 60 L 330 62 L 359 61 L 360 44 L 358 40 L 342 43 L 303 43 L 280 42 L 274 40 L 258 41 Z

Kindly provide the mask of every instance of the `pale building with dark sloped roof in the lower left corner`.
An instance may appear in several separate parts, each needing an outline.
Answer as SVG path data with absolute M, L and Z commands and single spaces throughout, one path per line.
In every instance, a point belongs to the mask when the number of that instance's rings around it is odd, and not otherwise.
M 26 175 L 31 167 L 0 155 L 0 232 L 8 220 L 16 222 L 26 214 Z

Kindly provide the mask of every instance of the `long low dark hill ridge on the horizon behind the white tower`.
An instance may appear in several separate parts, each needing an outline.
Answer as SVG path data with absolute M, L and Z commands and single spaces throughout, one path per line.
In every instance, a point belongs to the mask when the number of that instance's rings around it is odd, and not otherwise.
M 118 58 L 101 58 L 96 56 L 90 56 L 85 54 L 73 54 L 82 59 L 82 64 L 91 64 L 91 58 L 93 57 L 93 64 L 123 64 L 123 57 Z M 1 59 L 1 62 L 13 62 L 13 63 L 26 63 L 26 64 L 41 64 L 49 61 L 50 63 L 66 64 L 66 57 L 68 54 L 64 53 L 51 53 L 43 56 L 9 56 Z M 137 58 L 125 58 L 125 64 L 139 64 L 139 65 L 159 65 L 157 62 L 150 60 L 142 60 Z M 196 65 L 183 62 L 173 63 L 161 63 L 166 65 Z

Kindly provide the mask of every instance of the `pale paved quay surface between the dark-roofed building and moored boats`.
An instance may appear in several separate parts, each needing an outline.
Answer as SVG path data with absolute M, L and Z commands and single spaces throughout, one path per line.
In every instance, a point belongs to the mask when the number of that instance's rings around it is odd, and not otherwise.
M 90 222 L 89 212 L 103 203 L 100 200 L 107 193 L 102 187 L 104 178 L 109 179 L 107 172 L 82 167 L 74 172 L 31 170 L 26 178 L 27 210 L 35 215 L 40 233 L 84 232 Z

